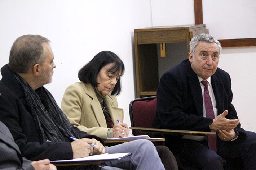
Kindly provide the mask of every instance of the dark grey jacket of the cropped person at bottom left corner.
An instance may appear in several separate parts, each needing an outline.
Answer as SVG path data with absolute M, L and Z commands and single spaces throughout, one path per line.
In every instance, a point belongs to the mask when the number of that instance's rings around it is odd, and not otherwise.
M 2 98 L 0 96 L 0 98 Z M 32 161 L 21 157 L 19 147 L 15 144 L 9 129 L 0 121 L 0 169 L 34 170 Z

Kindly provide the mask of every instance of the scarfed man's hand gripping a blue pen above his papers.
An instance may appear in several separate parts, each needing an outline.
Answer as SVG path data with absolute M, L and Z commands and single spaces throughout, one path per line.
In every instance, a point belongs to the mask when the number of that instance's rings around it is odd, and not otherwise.
M 90 154 L 92 155 L 92 139 L 83 138 L 78 141 L 71 142 L 71 147 L 73 150 L 73 158 L 86 157 Z

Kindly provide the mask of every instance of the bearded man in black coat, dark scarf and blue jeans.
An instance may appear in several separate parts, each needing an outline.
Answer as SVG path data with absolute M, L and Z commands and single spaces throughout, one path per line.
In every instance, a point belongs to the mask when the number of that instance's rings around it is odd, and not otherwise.
M 53 59 L 47 38 L 23 35 L 14 41 L 9 63 L 1 68 L 0 90 L 7 101 L 0 105 L 0 121 L 10 129 L 22 156 L 30 160 L 66 160 L 105 152 L 132 152 L 121 160 L 105 162 L 107 166 L 102 169 L 164 169 L 150 141 L 105 148 L 102 139 L 71 125 L 43 87 L 52 81 L 56 67 Z M 79 140 L 72 141 L 70 137 Z

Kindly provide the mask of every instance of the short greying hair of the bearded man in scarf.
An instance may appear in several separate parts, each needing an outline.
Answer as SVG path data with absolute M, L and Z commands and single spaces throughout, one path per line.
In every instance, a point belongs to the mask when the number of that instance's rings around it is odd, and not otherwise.
M 9 69 L 15 73 L 27 73 L 35 64 L 43 64 L 43 43 L 50 40 L 40 35 L 23 35 L 18 37 L 10 50 Z

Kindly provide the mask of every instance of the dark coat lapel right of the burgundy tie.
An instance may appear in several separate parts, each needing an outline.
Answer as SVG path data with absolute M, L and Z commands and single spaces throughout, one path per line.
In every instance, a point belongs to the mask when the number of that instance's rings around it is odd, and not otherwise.
M 220 81 L 216 72 L 211 77 L 212 89 L 216 100 L 216 108 L 218 108 L 218 115 L 224 110 L 224 84 Z

